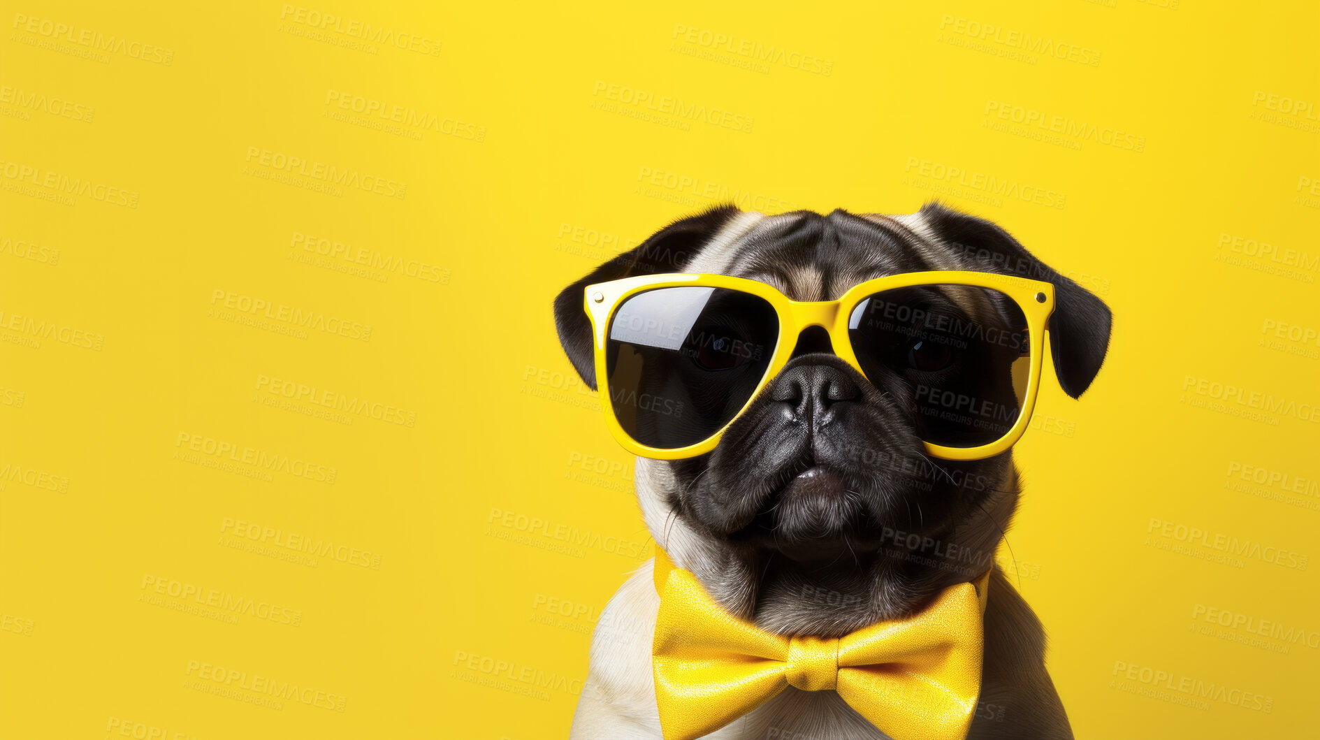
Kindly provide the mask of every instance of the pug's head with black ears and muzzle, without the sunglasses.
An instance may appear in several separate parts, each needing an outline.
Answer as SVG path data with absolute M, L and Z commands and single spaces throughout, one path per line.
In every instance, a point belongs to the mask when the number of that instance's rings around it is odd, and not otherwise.
M 1073 397 L 1086 389 L 1105 356 L 1107 307 L 1003 230 L 937 204 L 908 216 L 714 208 L 671 224 L 570 285 L 556 301 L 556 324 L 574 367 L 594 386 L 582 311 L 589 284 L 718 273 L 766 282 L 796 301 L 829 301 L 866 280 L 936 269 L 1052 282 L 1059 381 Z M 1015 330 L 1002 306 L 982 305 L 983 295 L 944 289 L 939 298 L 958 315 Z M 895 342 L 906 352 L 896 367 L 964 372 L 982 381 L 986 394 L 1005 392 L 983 368 L 952 367 L 958 360 L 948 350 L 915 344 Z M 824 330 L 808 328 L 714 450 L 684 460 L 639 459 L 638 493 L 652 536 L 725 608 L 771 629 L 842 633 L 993 565 L 1016 504 L 1011 452 L 968 462 L 928 458 L 915 398 L 921 385 L 904 372 L 870 375 L 836 356 Z

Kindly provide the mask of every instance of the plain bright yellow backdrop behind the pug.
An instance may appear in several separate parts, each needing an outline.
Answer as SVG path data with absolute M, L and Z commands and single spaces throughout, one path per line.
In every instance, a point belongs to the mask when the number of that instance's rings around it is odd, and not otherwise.
M 1115 314 L 1002 553 L 1078 737 L 1311 732 L 1315 4 L 243 5 L 0 13 L 0 733 L 565 736 L 648 538 L 553 295 L 936 197 Z

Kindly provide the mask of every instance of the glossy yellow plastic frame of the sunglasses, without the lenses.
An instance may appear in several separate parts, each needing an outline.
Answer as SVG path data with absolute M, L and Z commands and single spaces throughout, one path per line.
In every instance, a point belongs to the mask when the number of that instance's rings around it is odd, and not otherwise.
M 591 334 L 595 338 L 595 383 L 597 390 L 601 394 L 601 406 L 605 410 L 605 423 L 624 450 L 643 458 L 677 460 L 709 452 L 719 443 L 719 438 L 723 437 L 729 425 L 738 419 L 747 410 L 747 406 L 760 396 L 766 385 L 779 375 L 779 371 L 784 369 L 784 365 L 788 364 L 792 356 L 793 347 L 797 344 L 797 336 L 808 327 L 818 326 L 829 332 L 834 354 L 853 365 L 857 372 L 862 373 L 862 377 L 866 377 L 866 372 L 857 363 L 857 356 L 853 354 L 853 344 L 847 336 L 849 317 L 857 305 L 869 295 L 874 295 L 882 290 L 917 285 L 991 288 L 1012 298 L 1027 318 L 1027 342 L 1031 350 L 1031 364 L 1022 413 L 1018 416 L 1018 421 L 1012 425 L 1012 429 L 999 439 L 978 447 L 944 447 L 925 442 L 925 448 L 929 454 L 946 460 L 979 460 L 998 455 L 1022 438 L 1031 421 L 1031 413 L 1036 406 L 1045 331 L 1049 326 L 1049 315 L 1055 310 L 1055 286 L 1039 280 L 986 272 L 928 270 L 891 274 L 859 282 L 837 301 L 793 301 L 768 284 L 726 274 L 664 273 L 626 277 L 587 285 L 583 290 L 583 299 L 586 313 L 591 318 Z M 766 369 L 766 376 L 760 379 L 747 402 L 738 409 L 738 413 L 729 419 L 729 423 L 719 427 L 709 438 L 694 445 L 673 450 L 660 450 L 642 445 L 619 425 L 619 419 L 614 413 L 614 404 L 610 400 L 609 377 L 606 375 L 606 340 L 610 321 L 627 298 L 657 288 L 680 286 L 727 288 L 764 298 L 779 317 L 779 338 L 775 340 L 775 351 L 770 359 L 770 367 Z

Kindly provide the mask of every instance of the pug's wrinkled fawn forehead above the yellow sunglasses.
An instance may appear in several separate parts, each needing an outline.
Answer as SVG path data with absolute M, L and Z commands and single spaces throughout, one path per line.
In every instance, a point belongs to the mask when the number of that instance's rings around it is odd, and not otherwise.
M 866 280 L 937 269 L 960 269 L 960 261 L 921 214 L 793 211 L 739 214 L 682 272 L 758 280 L 795 301 L 832 301 Z

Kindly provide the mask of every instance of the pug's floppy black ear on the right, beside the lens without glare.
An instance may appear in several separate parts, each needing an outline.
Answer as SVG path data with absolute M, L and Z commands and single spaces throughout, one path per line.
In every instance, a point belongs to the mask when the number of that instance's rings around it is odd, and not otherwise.
M 1109 348 L 1113 315 L 1094 294 L 1027 252 L 994 223 L 940 203 L 921 207 L 921 215 L 965 262 L 977 269 L 1043 280 L 1055 285 L 1055 313 L 1049 317 L 1049 344 L 1055 372 L 1064 392 L 1077 398 L 1096 379 Z

